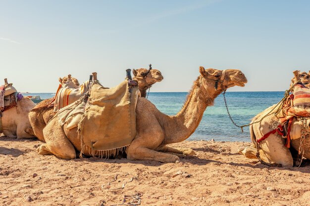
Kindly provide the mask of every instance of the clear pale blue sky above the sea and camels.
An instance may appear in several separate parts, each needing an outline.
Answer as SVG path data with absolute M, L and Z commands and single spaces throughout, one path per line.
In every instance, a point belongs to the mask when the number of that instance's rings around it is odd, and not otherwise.
M 0 82 L 21 92 L 92 72 L 113 87 L 149 64 L 164 76 L 151 92 L 189 91 L 200 66 L 240 69 L 228 91 L 283 91 L 310 70 L 310 1 L 0 0 Z

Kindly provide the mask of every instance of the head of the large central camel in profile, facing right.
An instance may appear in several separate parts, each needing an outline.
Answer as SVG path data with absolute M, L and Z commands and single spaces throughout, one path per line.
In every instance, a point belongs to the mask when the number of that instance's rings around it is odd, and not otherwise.
M 208 93 L 220 93 L 222 90 L 232 86 L 244 86 L 247 83 L 245 75 L 237 69 L 217 70 L 199 68 L 203 85 Z

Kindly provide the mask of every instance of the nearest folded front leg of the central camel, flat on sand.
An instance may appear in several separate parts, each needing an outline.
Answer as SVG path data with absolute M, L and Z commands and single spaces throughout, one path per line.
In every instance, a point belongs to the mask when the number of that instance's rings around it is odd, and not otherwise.
M 180 160 L 178 156 L 166 154 L 162 152 L 157 152 L 150 150 L 146 147 L 132 147 L 129 146 L 127 150 L 127 159 L 128 160 L 155 160 L 161 163 L 175 163 L 177 160 Z

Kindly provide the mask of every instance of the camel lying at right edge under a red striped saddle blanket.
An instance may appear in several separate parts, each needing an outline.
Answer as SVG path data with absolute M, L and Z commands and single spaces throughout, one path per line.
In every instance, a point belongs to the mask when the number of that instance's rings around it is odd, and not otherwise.
M 310 86 L 310 80 L 309 80 L 310 74 L 306 72 L 302 72 L 299 74 L 299 78 L 294 77 L 292 79 L 291 85 L 293 85 L 294 82 L 296 82 L 296 79 L 300 79 L 301 82 L 309 88 Z M 273 105 L 267 109 L 265 109 L 263 112 L 259 113 L 257 116 L 255 116 L 251 123 L 255 123 L 257 121 L 260 121 L 265 115 L 269 114 L 271 111 L 277 111 L 281 105 Z M 239 149 L 239 154 L 242 154 L 250 159 L 258 159 L 257 154 L 257 140 L 261 138 L 264 134 L 268 133 L 269 131 L 275 129 L 279 124 L 279 116 L 275 116 L 271 112 L 271 115 L 268 115 L 260 123 L 252 124 L 250 125 L 250 134 L 251 134 L 251 146 L 245 146 L 241 147 Z M 310 120 L 307 121 L 307 125 L 310 125 Z M 279 134 L 271 134 L 267 139 L 263 140 L 260 144 L 260 150 L 259 150 L 259 156 L 261 160 L 267 164 L 274 164 L 278 166 L 284 166 L 284 167 L 293 167 L 300 164 L 300 157 L 296 157 L 296 152 L 299 150 L 300 145 L 300 137 L 301 137 L 301 129 L 302 129 L 302 122 L 294 119 L 292 122 L 291 127 L 291 141 L 290 145 L 292 146 L 291 149 L 287 148 L 285 146 L 286 139 L 282 138 Z M 308 133 L 310 133 L 310 129 L 307 130 Z M 306 137 L 305 141 L 305 154 L 304 157 L 306 159 L 310 159 L 310 140 L 309 135 Z

